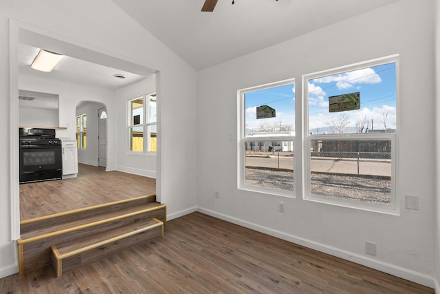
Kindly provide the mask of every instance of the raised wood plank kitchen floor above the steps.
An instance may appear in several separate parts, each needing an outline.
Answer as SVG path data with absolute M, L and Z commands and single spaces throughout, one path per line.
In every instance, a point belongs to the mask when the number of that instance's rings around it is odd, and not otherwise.
M 156 180 L 78 165 L 78 177 L 20 185 L 20 219 L 156 193 Z

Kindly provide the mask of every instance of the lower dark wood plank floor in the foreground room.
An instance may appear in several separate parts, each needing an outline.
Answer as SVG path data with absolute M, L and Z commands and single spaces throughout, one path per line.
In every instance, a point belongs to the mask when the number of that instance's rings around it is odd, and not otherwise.
M 0 279 L 0 293 L 434 293 L 432 288 L 201 213 L 165 235 L 56 278 Z

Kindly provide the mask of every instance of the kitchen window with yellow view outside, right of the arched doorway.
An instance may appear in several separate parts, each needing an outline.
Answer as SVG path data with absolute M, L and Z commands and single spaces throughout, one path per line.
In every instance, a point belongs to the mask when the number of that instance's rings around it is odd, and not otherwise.
M 157 151 L 156 116 L 155 93 L 145 94 L 129 100 L 129 151 Z

